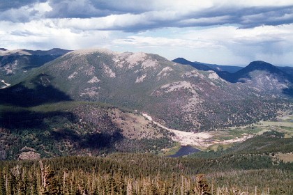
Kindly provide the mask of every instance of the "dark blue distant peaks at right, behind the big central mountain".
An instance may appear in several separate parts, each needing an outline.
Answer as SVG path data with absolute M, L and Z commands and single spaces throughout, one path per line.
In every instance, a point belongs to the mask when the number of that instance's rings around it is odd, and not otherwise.
M 283 88 L 287 88 L 285 90 L 288 90 L 288 88 L 291 88 L 291 85 L 293 83 L 293 68 L 276 67 L 264 61 L 251 62 L 245 68 L 237 66 L 232 66 L 231 68 L 228 68 L 229 66 L 190 62 L 182 58 L 175 59 L 174 61 L 185 65 L 192 65 L 194 68 L 196 68 L 199 64 L 204 65 L 204 67 L 209 66 L 217 73 L 217 75 L 220 78 L 225 79 L 225 81 L 229 81 L 231 83 L 249 83 L 249 86 L 255 88 L 262 88 L 262 91 L 267 90 L 266 92 L 268 93 L 272 92 L 271 89 L 273 89 L 274 91 L 275 88 L 272 86 L 276 86 L 276 88 L 278 88 L 279 91 Z M 235 70 L 237 71 L 234 72 Z

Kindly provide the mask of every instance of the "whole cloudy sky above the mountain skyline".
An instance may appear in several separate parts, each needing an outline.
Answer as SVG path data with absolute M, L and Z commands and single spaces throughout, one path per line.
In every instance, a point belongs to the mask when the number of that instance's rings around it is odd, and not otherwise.
M 0 0 L 0 47 L 293 66 L 293 1 Z

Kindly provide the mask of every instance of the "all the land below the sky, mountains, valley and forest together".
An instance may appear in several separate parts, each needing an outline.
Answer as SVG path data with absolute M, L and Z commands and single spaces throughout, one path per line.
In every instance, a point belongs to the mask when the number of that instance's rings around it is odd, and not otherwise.
M 0 194 L 293 192 L 292 81 L 271 64 L 227 74 L 142 52 L 5 51 Z

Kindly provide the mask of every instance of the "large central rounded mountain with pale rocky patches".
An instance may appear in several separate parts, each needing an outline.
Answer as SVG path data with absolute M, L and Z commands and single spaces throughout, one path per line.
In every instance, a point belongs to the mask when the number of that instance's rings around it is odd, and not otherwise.
M 276 116 L 280 107 L 263 105 L 282 102 L 287 85 L 271 79 L 272 86 L 231 83 L 213 70 L 196 70 L 156 54 L 82 49 L 33 68 L 17 85 L 0 90 L 0 104 L 104 102 L 145 112 L 177 130 L 203 131 Z

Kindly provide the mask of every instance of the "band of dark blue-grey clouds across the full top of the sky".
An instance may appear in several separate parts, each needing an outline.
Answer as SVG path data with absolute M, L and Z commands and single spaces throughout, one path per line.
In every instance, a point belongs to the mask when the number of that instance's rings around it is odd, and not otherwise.
M 262 25 L 280 25 L 293 23 L 293 3 L 285 6 L 254 6 L 246 3 L 218 3 L 206 1 L 208 6 L 195 1 L 156 1 L 156 0 L 1 0 L 0 20 L 28 22 L 38 19 L 103 18 L 100 22 L 112 25 L 93 25 L 89 22 L 84 30 L 112 30 L 137 32 L 164 27 L 192 27 L 236 24 L 239 28 L 252 28 Z M 35 3 L 47 2 L 52 10 L 38 15 L 38 10 L 25 9 Z M 189 3 L 189 4 L 188 4 Z M 17 10 L 19 9 L 19 10 Z M 82 22 L 82 21 L 80 21 Z M 99 22 L 99 21 L 98 21 Z M 63 25 L 64 26 L 64 25 Z M 66 25 L 65 25 L 66 26 Z M 92 26 L 92 27 L 91 27 Z M 83 30 L 82 25 L 71 27 Z

